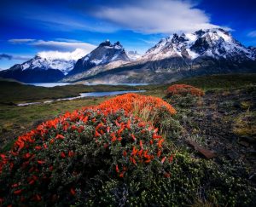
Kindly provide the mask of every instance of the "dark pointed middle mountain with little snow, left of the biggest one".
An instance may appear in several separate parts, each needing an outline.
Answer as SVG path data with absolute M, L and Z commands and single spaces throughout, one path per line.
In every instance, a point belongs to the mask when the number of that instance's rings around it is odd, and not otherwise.
M 92 50 L 90 54 L 79 59 L 73 70 L 68 73 L 68 76 L 88 71 L 95 66 L 105 66 L 115 61 L 126 62 L 130 61 L 130 59 L 119 42 L 112 44 L 109 40 L 106 40 L 105 42 L 100 43 L 100 45 Z

